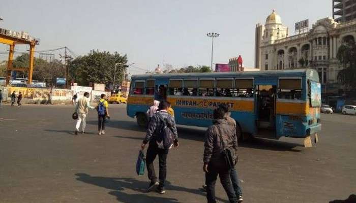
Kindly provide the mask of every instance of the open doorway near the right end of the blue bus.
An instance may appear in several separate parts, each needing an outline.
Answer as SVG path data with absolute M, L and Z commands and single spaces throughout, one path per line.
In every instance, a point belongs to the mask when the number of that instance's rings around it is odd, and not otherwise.
M 256 125 L 258 131 L 276 130 L 276 99 L 277 99 L 277 77 L 257 77 L 254 81 L 256 90 Z

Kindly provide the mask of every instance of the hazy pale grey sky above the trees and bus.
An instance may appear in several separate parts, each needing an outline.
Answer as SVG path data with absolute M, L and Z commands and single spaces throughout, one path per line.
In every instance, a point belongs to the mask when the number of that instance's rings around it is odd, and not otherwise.
M 254 67 L 255 26 L 264 24 L 273 9 L 294 35 L 297 21 L 308 18 L 311 27 L 317 19 L 331 17 L 332 0 L 2 1 L 0 27 L 40 38 L 36 50 L 67 46 L 78 55 L 92 49 L 117 51 L 144 70 L 164 63 L 210 65 L 211 38 L 206 33 L 218 32 L 214 63 L 241 54 L 244 65 Z M 0 45 L 0 52 L 6 50 Z M 130 72 L 142 73 L 135 67 Z

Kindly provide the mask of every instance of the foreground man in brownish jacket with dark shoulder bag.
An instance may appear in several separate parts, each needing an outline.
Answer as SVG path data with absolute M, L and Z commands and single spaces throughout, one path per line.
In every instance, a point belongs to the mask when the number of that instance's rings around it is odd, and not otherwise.
M 227 167 L 222 154 L 225 145 L 226 148 L 234 149 L 235 156 L 233 158 L 236 158 L 238 154 L 236 133 L 227 123 L 225 111 L 222 108 L 214 110 L 214 119 L 213 125 L 206 130 L 204 143 L 203 171 L 205 172 L 207 202 L 216 202 L 215 182 L 219 175 L 220 182 L 226 191 L 229 201 L 236 203 L 238 198 L 231 185 L 231 170 Z M 222 142 L 224 142 L 224 145 Z

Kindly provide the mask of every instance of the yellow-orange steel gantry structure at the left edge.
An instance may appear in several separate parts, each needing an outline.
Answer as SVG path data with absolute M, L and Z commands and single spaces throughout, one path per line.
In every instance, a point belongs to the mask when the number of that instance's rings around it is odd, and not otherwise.
M 31 84 L 32 73 L 34 70 L 35 45 L 40 44 L 39 39 L 28 36 L 26 32 L 15 32 L 8 29 L 0 28 L 0 43 L 10 46 L 5 85 L 7 86 L 9 84 L 12 71 L 28 71 L 27 84 Z M 29 45 L 28 67 L 13 66 L 12 62 L 14 57 L 15 45 Z

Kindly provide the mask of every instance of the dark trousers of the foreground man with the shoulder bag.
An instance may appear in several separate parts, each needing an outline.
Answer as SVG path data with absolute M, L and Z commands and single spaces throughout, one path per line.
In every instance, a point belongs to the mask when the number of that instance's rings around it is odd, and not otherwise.
M 213 166 L 212 164 L 209 164 L 207 170 L 209 171 L 208 173 L 205 173 L 207 203 L 216 203 L 215 183 L 218 175 L 229 201 L 231 203 L 238 202 L 238 198 L 236 197 L 231 185 L 231 170 L 228 170 L 226 166 Z

